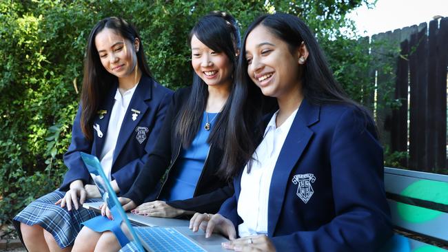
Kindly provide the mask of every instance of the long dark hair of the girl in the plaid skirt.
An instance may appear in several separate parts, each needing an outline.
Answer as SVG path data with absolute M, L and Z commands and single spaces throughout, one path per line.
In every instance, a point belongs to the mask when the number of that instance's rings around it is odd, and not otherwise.
M 123 36 L 124 39 L 128 39 L 132 44 L 135 39 L 139 39 L 139 51 L 136 52 L 137 66 L 143 74 L 152 77 L 139 32 L 133 25 L 119 17 L 108 17 L 96 23 L 90 32 L 85 49 L 83 90 L 81 91 L 81 130 L 85 138 L 89 140 L 93 138 L 92 123 L 96 116 L 96 111 L 99 109 L 99 105 L 103 102 L 108 90 L 110 90 L 112 83 L 118 81 L 116 76 L 105 70 L 96 49 L 96 35 L 104 28 L 114 30 L 116 34 Z

